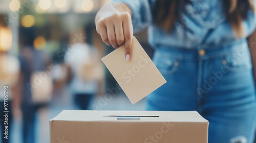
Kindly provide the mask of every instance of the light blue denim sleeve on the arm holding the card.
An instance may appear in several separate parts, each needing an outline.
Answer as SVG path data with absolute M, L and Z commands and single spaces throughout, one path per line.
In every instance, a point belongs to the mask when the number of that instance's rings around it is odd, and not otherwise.
M 132 11 L 134 32 L 148 27 L 152 22 L 151 6 L 154 0 L 113 0 L 111 3 L 124 3 Z

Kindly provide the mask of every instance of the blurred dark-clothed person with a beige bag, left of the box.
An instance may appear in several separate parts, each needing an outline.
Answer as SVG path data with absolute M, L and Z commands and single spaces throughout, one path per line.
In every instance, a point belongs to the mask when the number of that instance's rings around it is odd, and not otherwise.
M 21 108 L 23 114 L 23 142 L 34 143 L 35 139 L 35 117 L 39 110 L 42 121 L 47 120 L 45 107 L 49 103 L 51 96 L 51 73 L 45 71 L 49 66 L 50 58 L 47 54 L 40 50 L 36 50 L 33 46 L 35 39 L 34 27 L 20 27 L 20 42 L 23 48 L 20 51 L 20 67 L 21 67 Z M 47 125 L 41 125 L 41 130 Z M 45 129 L 46 130 L 46 129 Z M 45 139 L 46 137 L 42 137 Z

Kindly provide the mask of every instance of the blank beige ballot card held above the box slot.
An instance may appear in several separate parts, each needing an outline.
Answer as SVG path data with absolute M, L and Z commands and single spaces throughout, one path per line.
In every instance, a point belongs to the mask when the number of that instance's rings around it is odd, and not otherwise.
M 124 45 L 101 60 L 132 104 L 135 104 L 166 81 L 137 39 L 133 37 L 132 40 L 129 62 L 125 59 Z

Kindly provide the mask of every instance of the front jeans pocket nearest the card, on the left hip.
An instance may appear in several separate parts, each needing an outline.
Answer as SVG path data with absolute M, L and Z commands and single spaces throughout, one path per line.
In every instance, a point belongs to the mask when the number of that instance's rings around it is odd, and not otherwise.
M 162 75 L 174 74 L 179 67 L 178 58 L 172 56 L 159 55 L 154 57 L 153 62 Z

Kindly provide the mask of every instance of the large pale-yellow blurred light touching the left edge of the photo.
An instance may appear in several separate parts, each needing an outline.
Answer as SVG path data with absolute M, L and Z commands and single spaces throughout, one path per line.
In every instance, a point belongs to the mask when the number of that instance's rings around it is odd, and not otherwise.
M 10 28 L 0 26 L 0 51 L 9 51 L 12 45 L 12 31 Z

